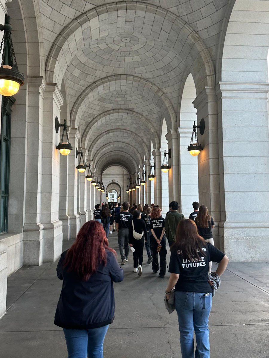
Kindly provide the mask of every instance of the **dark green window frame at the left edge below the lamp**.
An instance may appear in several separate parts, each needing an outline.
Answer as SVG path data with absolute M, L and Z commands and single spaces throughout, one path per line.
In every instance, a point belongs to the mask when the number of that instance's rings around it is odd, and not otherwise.
M 8 231 L 11 106 L 13 97 L 2 96 L 0 132 L 0 233 Z

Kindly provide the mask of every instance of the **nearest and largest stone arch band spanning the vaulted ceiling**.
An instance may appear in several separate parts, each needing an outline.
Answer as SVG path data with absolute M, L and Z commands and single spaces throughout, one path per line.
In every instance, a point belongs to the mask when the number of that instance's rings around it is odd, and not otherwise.
M 191 64 L 189 70 L 195 73 L 194 79 L 195 82 L 197 81 L 198 92 L 204 86 L 214 86 L 214 66 L 211 54 L 195 30 L 183 19 L 168 10 L 153 4 L 131 1 L 100 5 L 72 20 L 57 36 L 48 54 L 46 61 L 47 81 L 61 82 L 61 77 L 72 58 L 79 49 L 84 47 L 86 39 L 82 34 L 82 25 L 87 28 L 85 24 L 89 23 L 87 42 L 97 39 L 100 37 L 99 17 L 101 18 L 103 15 L 103 18 L 105 18 L 105 14 L 109 16 L 110 13 L 118 13 L 119 11 L 121 11 L 121 15 L 130 14 L 133 16 L 139 16 L 143 11 L 148 15 L 147 26 L 143 28 L 143 32 L 164 41 L 179 53 L 186 64 Z M 122 31 L 127 31 L 126 17 L 121 17 L 119 27 Z M 108 24 L 102 29 L 101 33 L 102 35 L 108 34 Z M 184 43 L 180 42 L 180 37 Z M 56 78 L 56 73 L 59 73 L 60 77 Z

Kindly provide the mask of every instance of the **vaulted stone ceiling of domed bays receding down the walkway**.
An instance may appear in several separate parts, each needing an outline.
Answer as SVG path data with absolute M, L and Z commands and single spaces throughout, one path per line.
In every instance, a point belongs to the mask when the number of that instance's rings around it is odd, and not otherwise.
M 163 117 L 175 128 L 188 74 L 197 91 L 206 84 L 199 41 L 213 68 L 226 3 L 39 0 L 44 55 L 49 63 L 55 48 L 60 52 L 53 82 L 64 84 L 70 125 L 79 128 L 93 165 L 113 153 L 137 170 L 151 142 L 159 145 Z M 57 50 L 59 36 L 66 40 Z

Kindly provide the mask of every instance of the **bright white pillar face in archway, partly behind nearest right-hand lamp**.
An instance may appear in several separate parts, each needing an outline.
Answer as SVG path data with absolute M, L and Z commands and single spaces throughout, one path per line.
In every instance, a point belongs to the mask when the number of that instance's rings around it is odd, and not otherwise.
M 181 213 L 185 218 L 193 212 L 192 203 L 199 201 L 198 158 L 187 148 L 192 137 L 192 128 L 178 128 L 180 153 L 180 202 Z

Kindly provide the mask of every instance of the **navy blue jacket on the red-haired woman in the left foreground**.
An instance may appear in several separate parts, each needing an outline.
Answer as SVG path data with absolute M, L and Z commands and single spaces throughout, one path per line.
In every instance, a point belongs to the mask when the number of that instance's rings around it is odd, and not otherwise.
M 57 266 L 57 276 L 63 280 L 54 324 L 67 329 L 90 329 L 113 322 L 115 299 L 113 282 L 121 282 L 124 271 L 113 252 L 107 250 L 107 265 L 99 265 L 88 281 L 63 267 L 67 251 Z

